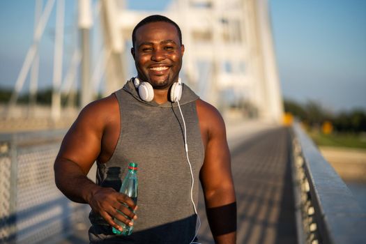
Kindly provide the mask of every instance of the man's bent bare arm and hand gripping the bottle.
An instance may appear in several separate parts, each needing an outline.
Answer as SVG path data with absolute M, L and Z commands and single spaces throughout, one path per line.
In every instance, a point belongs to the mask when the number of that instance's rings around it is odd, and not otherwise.
M 102 148 L 102 142 L 105 141 L 103 137 L 107 135 L 106 132 L 110 130 L 114 99 L 110 96 L 92 102 L 80 112 L 63 139 L 54 162 L 54 175 L 57 187 L 66 197 L 72 201 L 89 204 L 93 211 L 99 213 L 109 224 L 121 229 L 113 218 L 119 218 L 126 224 L 130 223 L 130 220 L 119 214 L 116 209 L 134 218 L 134 213 L 121 204 L 128 204 L 133 209 L 134 202 L 112 188 L 96 185 L 86 176 L 95 160 L 106 154 L 107 148 Z

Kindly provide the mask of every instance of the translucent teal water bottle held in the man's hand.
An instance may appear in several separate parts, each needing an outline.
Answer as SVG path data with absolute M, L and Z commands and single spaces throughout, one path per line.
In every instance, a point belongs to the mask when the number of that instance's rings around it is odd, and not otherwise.
M 130 162 L 130 165 L 128 165 L 128 173 L 123 179 L 121 190 L 119 192 L 128 195 L 128 197 L 132 198 L 133 201 L 135 201 L 135 204 L 137 204 L 137 163 Z M 121 212 L 119 212 L 121 213 Z M 122 213 L 123 214 L 123 213 Z M 125 216 L 126 217 L 126 216 Z M 112 228 L 112 231 L 114 234 L 123 235 L 123 236 L 130 236 L 132 234 L 133 226 L 126 225 L 123 222 L 114 219 L 114 222 L 119 224 L 123 228 L 122 231 L 119 231 L 118 229 Z M 133 220 L 132 220 L 133 222 Z

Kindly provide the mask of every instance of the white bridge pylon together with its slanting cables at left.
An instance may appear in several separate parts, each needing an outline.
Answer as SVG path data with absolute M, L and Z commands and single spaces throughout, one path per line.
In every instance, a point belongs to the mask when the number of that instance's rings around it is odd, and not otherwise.
M 63 75 L 64 0 L 36 0 L 33 45 L 9 102 L 11 114 L 24 82 L 31 73 L 31 102 L 35 107 L 38 85 L 38 49 L 45 25 L 56 6 L 53 95 L 51 116 L 61 119 L 61 93 L 69 96 L 80 73 L 80 105 L 93 100 L 105 78 L 104 95 L 118 90 L 132 64 L 131 33 L 144 17 L 165 15 L 180 27 L 185 45 L 181 77 L 198 95 L 221 110 L 250 108 L 259 119 L 280 122 L 282 97 L 277 75 L 273 40 L 268 19 L 268 0 L 172 0 L 166 10 L 128 10 L 124 0 L 78 0 L 79 47 L 75 48 L 66 75 Z M 56 3 L 56 4 L 54 4 Z M 91 47 L 91 30 L 100 31 L 99 47 Z M 95 36 L 93 36 L 95 37 Z M 99 40 L 97 40 L 98 42 Z M 98 45 L 97 45 L 98 46 Z M 95 62 L 92 51 L 99 49 Z M 93 66 L 93 67 L 91 67 Z M 74 93 L 73 93 L 74 92 Z M 69 103 L 71 104 L 71 102 Z

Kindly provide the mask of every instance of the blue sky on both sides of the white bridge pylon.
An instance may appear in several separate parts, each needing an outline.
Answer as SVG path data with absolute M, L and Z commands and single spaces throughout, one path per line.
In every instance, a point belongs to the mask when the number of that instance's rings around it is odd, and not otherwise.
M 70 11 L 75 2 L 66 0 L 65 60 L 77 40 L 75 13 Z M 128 1 L 128 7 L 161 10 L 168 2 Z M 31 46 L 34 5 L 31 0 L 0 1 L 0 86 L 13 86 Z M 335 112 L 366 110 L 366 1 L 269 0 L 269 6 L 284 97 L 314 100 Z M 41 41 L 44 86 L 52 84 L 47 70 L 52 71 L 53 63 L 54 12 Z

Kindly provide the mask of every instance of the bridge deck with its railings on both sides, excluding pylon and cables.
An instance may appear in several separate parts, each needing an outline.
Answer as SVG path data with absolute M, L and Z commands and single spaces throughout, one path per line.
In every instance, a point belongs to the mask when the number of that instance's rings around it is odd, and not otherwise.
M 299 125 L 227 121 L 227 129 L 238 243 L 365 241 L 365 210 Z M 64 133 L 1 135 L 0 243 L 88 243 L 89 206 L 69 201 L 54 185 Z M 199 215 L 199 240 L 213 243 L 202 195 Z

